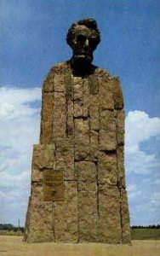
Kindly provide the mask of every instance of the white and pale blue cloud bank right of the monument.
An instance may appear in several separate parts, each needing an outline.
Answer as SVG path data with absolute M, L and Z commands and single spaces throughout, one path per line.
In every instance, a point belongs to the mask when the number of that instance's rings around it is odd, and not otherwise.
M 125 167 L 126 177 L 130 181 L 128 191 L 131 224 L 157 224 L 159 192 L 153 184 L 160 182 L 160 160 L 157 158 L 158 148 L 154 142 L 160 135 L 160 119 L 151 118 L 143 111 L 130 111 L 126 117 L 125 131 Z M 147 150 L 143 146 L 144 142 L 148 145 Z

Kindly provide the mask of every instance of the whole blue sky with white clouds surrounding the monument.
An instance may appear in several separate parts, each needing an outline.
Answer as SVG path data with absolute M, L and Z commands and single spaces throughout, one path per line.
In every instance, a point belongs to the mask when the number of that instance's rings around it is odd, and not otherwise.
M 123 87 L 131 224 L 160 223 L 160 1 L 0 0 L 0 9 L 0 223 L 24 224 L 43 79 L 70 59 L 66 32 L 86 17 L 101 33 L 94 64 Z

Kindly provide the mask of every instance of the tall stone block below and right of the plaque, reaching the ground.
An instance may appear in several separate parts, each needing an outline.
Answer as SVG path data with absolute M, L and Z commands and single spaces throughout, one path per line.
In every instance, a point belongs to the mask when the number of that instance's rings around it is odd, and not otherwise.
M 65 182 L 65 201 L 54 202 L 55 241 L 77 242 L 78 240 L 77 182 Z

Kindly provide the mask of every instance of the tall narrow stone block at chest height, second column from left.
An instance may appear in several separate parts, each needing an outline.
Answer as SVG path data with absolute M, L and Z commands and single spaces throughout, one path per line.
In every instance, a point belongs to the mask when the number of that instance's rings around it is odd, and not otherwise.
M 66 96 L 63 92 L 54 92 L 53 136 L 66 137 Z

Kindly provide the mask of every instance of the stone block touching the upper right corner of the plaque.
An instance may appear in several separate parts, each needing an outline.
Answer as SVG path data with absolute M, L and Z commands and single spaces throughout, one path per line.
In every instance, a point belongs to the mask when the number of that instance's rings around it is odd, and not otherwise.
M 55 140 L 55 168 L 64 170 L 65 180 L 75 180 L 74 169 L 74 143 L 70 138 L 59 138 Z

